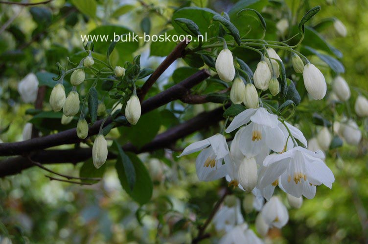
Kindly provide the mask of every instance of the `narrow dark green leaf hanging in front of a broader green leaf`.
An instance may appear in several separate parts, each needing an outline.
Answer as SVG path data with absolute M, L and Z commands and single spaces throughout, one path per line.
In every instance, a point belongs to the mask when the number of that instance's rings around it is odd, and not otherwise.
M 124 172 L 120 174 L 118 173 L 118 175 L 125 174 L 125 178 L 129 185 L 129 189 L 133 191 L 134 185 L 136 184 L 136 170 L 134 169 L 134 165 L 130 160 L 130 158 L 124 153 L 123 149 L 116 140 L 114 140 L 113 146 L 115 146 L 117 152 L 117 159 L 115 165 L 122 164 L 123 165 L 122 168 L 124 169 Z M 121 167 L 116 167 L 116 170 L 117 168 L 120 169 Z

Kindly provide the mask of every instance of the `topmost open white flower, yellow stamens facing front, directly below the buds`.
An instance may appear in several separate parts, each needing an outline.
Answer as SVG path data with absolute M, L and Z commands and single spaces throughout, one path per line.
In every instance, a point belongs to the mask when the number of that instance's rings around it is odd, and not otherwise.
M 277 126 L 277 115 L 268 113 L 265 108 L 249 108 L 236 115 L 226 132 L 230 133 L 248 122 L 251 123 L 239 132 L 242 142 L 239 148 L 243 155 L 253 158 L 261 152 L 263 146 L 275 152 L 281 152 L 284 149 L 286 139 Z

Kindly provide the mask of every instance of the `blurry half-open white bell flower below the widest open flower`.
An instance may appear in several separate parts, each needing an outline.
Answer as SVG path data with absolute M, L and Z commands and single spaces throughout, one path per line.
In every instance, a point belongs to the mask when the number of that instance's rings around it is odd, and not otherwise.
M 266 224 L 282 228 L 289 221 L 289 213 L 276 196 L 272 197 L 262 208 L 262 217 Z

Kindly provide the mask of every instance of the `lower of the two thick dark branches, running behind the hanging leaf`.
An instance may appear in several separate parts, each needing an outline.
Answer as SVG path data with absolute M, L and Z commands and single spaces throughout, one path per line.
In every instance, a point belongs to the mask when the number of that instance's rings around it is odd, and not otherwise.
M 124 151 L 135 153 L 151 152 L 160 148 L 165 148 L 177 140 L 184 138 L 195 131 L 207 128 L 223 120 L 222 107 L 204 112 L 196 117 L 174 126 L 167 131 L 157 135 L 152 142 L 147 143 L 141 149 L 137 149 L 131 143 L 122 146 Z M 67 150 L 42 150 L 30 156 L 32 161 L 42 164 L 48 163 L 78 163 L 84 162 L 92 157 L 91 148 L 67 149 Z M 114 159 L 115 154 L 109 152 L 108 159 Z M 0 162 L 0 177 L 20 173 L 23 169 L 34 166 L 27 157 L 14 157 Z

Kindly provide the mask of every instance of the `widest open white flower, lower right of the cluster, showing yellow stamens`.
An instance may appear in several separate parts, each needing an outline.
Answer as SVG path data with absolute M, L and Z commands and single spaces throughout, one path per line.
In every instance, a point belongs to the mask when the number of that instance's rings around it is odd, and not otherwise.
M 266 187 L 281 180 L 285 192 L 294 197 L 311 199 L 316 194 L 316 185 L 332 187 L 335 177 L 322 161 L 324 155 L 303 147 L 294 147 L 282 154 L 272 154 L 263 161 L 265 169 L 259 175 L 259 187 Z

